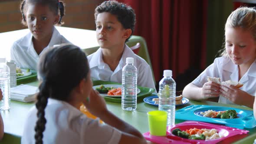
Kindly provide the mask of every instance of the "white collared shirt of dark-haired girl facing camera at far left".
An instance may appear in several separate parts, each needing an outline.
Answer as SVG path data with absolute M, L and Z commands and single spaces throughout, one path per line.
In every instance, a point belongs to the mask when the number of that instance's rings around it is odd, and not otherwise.
M 15 41 L 11 47 L 11 59 L 15 60 L 16 65 L 20 68 L 36 70 L 39 56 L 49 49 L 49 47 L 62 43 L 70 43 L 64 36 L 60 35 L 58 30 L 54 27 L 53 36 L 48 46 L 46 46 L 38 56 L 36 50 L 34 49 L 32 38 L 33 35 L 30 32 L 26 36 Z

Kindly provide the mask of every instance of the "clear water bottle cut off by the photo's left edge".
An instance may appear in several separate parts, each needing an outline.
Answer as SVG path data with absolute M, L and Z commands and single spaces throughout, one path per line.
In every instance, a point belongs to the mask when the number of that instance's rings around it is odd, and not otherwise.
M 2 106 L 0 110 L 10 109 L 10 68 L 5 58 L 0 58 L 0 88 L 3 92 Z

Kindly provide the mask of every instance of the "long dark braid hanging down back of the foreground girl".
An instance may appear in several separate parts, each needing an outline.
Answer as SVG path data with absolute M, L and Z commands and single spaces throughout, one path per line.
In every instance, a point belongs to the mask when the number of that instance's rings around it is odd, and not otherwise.
M 43 144 L 43 131 L 45 130 L 45 124 L 46 124 L 46 118 L 44 117 L 49 93 L 47 92 L 47 85 L 46 81 L 43 81 L 41 85 L 39 86 L 39 93 L 37 95 L 37 102 L 36 102 L 36 108 L 37 108 L 37 118 L 36 121 L 36 127 L 35 127 L 35 140 L 36 144 Z

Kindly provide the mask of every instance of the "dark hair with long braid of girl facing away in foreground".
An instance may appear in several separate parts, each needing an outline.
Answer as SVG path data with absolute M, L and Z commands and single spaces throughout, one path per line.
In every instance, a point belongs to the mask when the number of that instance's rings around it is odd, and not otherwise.
M 74 74 L 75 73 L 75 74 Z M 69 101 L 70 92 L 87 78 L 89 64 L 85 53 L 74 45 L 50 48 L 40 56 L 38 77 L 42 81 L 37 95 L 36 144 L 43 144 L 46 128 L 45 108 L 48 98 Z

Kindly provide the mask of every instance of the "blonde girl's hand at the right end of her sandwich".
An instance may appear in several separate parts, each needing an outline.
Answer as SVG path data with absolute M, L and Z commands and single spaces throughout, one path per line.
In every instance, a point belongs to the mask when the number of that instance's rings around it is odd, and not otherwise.
M 220 86 L 221 95 L 237 105 L 253 107 L 253 96 L 230 84 Z

